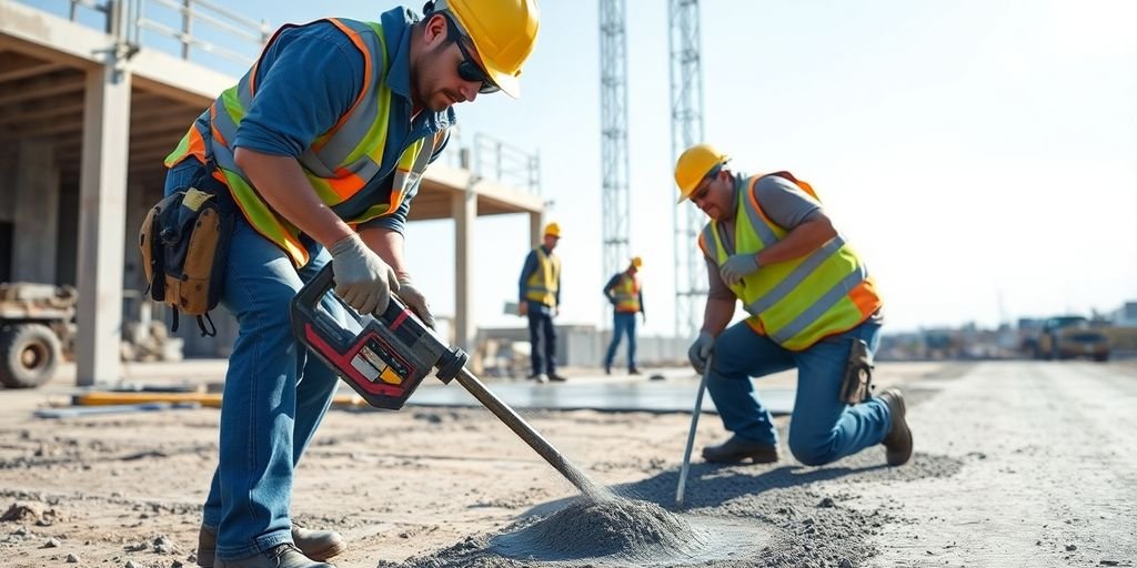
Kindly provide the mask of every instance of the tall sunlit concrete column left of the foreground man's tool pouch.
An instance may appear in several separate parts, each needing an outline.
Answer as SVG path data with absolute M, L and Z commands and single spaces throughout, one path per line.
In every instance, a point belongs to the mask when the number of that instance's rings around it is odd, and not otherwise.
M 109 53 L 86 74 L 78 223 L 80 386 L 118 381 L 131 74 Z

